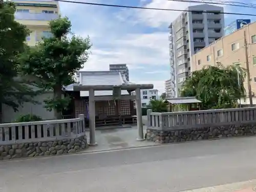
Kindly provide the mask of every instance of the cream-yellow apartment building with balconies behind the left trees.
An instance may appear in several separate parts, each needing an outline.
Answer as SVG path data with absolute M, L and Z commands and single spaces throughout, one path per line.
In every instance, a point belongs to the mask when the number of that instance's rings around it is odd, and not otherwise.
M 16 4 L 15 20 L 31 31 L 27 37 L 29 46 L 35 46 L 42 37 L 52 35 L 49 22 L 58 18 L 59 5 L 55 1 L 14 1 Z

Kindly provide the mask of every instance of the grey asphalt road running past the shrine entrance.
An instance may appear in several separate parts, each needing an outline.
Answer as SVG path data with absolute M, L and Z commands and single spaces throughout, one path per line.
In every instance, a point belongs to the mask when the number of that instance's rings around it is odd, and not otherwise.
M 256 179 L 256 137 L 6 161 L 0 173 L 3 192 L 175 192 Z

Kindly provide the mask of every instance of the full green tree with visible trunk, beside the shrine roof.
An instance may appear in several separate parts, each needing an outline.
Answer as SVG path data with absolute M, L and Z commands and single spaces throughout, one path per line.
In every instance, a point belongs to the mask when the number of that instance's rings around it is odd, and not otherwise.
M 40 88 L 53 91 L 54 97 L 45 100 L 46 108 L 54 110 L 55 118 L 60 119 L 70 101 L 63 96 L 63 87 L 75 82 L 75 73 L 88 60 L 91 43 L 89 37 L 71 34 L 67 17 L 52 20 L 49 25 L 52 37 L 43 38 L 34 49 L 23 54 L 20 62 L 24 74 L 37 77 Z

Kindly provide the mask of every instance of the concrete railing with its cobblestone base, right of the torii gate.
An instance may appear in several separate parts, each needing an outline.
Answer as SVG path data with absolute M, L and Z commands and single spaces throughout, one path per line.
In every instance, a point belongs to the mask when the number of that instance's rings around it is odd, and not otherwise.
M 147 139 L 158 143 L 256 134 L 256 108 L 154 113 L 147 110 Z

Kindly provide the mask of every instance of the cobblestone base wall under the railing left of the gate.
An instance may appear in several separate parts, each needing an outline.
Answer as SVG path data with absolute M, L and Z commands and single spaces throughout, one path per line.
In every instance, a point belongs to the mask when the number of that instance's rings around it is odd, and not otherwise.
M 0 145 L 0 160 L 70 154 L 87 147 L 85 135 L 76 139 Z

